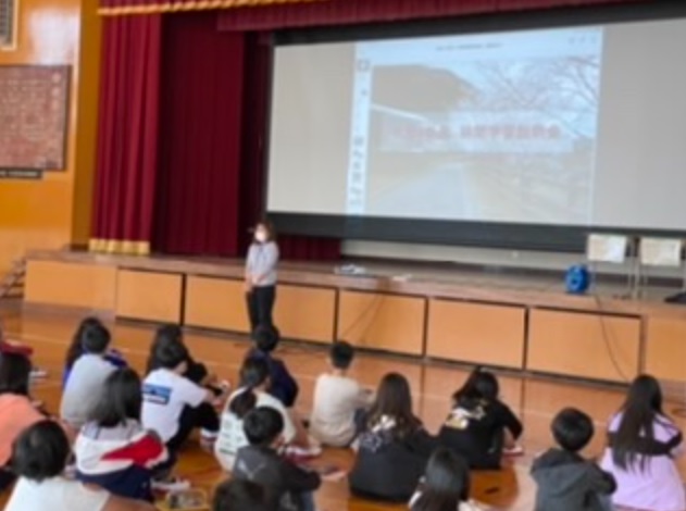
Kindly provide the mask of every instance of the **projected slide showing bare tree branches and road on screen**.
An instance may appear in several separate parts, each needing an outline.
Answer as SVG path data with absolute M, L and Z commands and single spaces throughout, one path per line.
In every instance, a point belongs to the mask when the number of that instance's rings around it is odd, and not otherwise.
M 588 224 L 602 28 L 359 42 L 346 213 Z

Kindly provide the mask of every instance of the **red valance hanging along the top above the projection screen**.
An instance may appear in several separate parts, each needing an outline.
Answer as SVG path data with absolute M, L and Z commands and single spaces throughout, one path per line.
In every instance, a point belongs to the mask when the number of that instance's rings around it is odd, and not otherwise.
M 220 29 L 267 30 L 629 1 L 646 0 L 326 0 L 312 3 L 275 3 L 221 11 Z

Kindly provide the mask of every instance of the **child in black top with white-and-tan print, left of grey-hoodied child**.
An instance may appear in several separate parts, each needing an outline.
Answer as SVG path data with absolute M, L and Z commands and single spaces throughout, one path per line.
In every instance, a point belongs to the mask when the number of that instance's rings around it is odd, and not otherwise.
M 452 396 L 452 410 L 440 428 L 440 443 L 463 456 L 472 469 L 500 469 L 503 453 L 515 451 L 522 435 L 522 423 L 498 395 L 496 376 L 475 369 Z

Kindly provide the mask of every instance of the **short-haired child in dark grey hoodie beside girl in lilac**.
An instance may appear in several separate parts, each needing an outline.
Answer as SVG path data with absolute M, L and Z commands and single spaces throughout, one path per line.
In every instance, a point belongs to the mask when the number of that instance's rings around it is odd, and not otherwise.
M 538 485 L 536 511 L 609 511 L 614 477 L 579 456 L 594 436 L 594 423 L 584 412 L 566 408 L 551 425 L 558 447 L 534 461 Z

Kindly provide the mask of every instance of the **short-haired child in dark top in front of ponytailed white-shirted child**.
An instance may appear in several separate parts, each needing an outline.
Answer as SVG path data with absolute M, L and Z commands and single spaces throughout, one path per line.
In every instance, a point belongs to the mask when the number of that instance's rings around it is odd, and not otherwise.
M 322 478 L 282 457 L 284 417 L 275 409 L 258 407 L 244 420 L 249 446 L 236 458 L 234 477 L 248 479 L 264 487 L 270 509 L 313 511 L 315 491 Z

